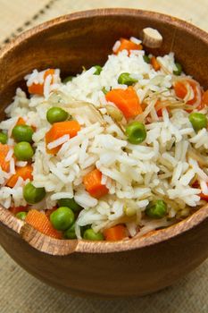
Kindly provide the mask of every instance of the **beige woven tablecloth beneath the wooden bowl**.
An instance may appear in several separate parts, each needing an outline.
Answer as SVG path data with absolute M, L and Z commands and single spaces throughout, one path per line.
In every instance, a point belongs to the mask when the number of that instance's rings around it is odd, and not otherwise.
M 0 45 L 39 22 L 98 7 L 168 13 L 208 31 L 208 0 L 0 0 Z M 86 300 L 40 283 L 0 249 L 0 313 L 207 313 L 207 277 L 208 260 L 176 285 L 141 299 Z

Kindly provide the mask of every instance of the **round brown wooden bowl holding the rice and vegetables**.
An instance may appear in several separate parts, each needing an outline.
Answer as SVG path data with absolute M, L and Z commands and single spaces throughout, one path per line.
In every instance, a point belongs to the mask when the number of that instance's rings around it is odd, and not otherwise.
M 162 33 L 154 54 L 173 51 L 185 72 L 208 88 L 208 35 L 170 16 L 112 9 L 48 21 L 0 53 L 1 118 L 23 77 L 34 68 L 71 74 L 105 62 L 118 38 L 139 37 L 146 27 Z M 171 285 L 208 256 L 208 206 L 179 224 L 128 241 L 58 241 L 0 208 L 0 243 L 30 274 L 65 292 L 99 297 L 133 296 Z

